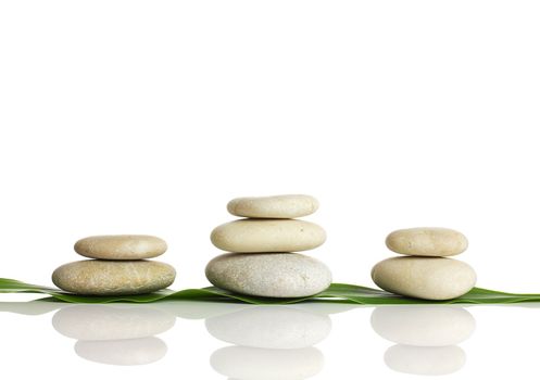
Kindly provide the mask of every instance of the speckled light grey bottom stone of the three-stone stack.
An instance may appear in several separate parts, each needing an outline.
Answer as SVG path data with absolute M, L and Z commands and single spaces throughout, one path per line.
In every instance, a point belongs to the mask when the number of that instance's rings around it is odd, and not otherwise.
M 206 265 L 206 278 L 231 292 L 271 297 L 309 296 L 331 282 L 326 265 L 300 253 L 226 253 Z

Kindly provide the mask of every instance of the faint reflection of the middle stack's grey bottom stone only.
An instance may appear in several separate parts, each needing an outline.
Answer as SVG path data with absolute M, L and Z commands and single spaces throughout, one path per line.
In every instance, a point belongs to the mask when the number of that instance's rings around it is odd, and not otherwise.
M 287 306 L 254 306 L 206 319 L 215 338 L 261 349 L 302 349 L 324 340 L 331 329 L 326 315 Z

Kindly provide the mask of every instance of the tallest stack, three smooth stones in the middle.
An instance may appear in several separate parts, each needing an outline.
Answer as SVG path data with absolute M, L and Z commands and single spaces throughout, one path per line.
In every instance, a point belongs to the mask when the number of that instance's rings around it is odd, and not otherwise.
M 246 218 L 212 231 L 212 243 L 231 253 L 213 258 L 206 266 L 206 278 L 218 288 L 255 296 L 298 297 L 322 292 L 331 282 L 328 267 L 293 253 L 325 242 L 323 228 L 294 219 L 317 208 L 318 202 L 310 195 L 230 201 L 228 212 Z

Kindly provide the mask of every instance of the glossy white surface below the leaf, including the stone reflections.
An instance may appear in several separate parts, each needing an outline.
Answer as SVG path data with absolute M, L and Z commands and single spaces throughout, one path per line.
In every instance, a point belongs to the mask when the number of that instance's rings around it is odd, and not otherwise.
M 0 303 L 4 371 L 90 379 L 457 379 L 535 370 L 540 309 Z

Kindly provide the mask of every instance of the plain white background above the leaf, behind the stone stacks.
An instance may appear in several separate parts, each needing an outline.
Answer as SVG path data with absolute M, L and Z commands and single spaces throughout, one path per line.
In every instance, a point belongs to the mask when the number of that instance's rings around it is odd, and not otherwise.
M 538 20 L 537 1 L 1 1 L 0 276 L 50 284 L 77 239 L 150 233 L 173 289 L 204 287 L 230 199 L 309 193 L 335 281 L 373 286 L 388 232 L 441 226 L 478 286 L 540 292 Z

